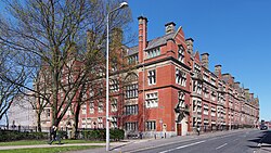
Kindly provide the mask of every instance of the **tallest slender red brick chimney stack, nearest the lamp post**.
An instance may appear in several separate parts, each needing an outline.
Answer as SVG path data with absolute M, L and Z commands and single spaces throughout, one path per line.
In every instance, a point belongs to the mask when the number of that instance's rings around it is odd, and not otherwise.
M 147 34 L 147 18 L 139 16 L 139 62 L 144 60 L 144 49 L 146 48 L 146 34 Z

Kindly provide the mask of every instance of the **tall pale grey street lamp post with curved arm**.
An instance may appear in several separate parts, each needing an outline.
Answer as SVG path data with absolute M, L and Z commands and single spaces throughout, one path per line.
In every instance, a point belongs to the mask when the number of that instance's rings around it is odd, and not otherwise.
M 128 3 L 121 2 L 118 8 L 112 10 L 106 15 L 106 151 L 109 151 L 109 15 L 126 7 L 128 7 Z

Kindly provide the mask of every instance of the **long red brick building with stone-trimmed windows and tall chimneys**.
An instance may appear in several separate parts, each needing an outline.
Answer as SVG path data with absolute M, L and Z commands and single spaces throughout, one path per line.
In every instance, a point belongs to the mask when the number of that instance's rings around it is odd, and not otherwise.
M 221 65 L 210 72 L 209 54 L 194 52 L 182 27 L 165 25 L 165 35 L 147 40 L 147 18 L 138 17 L 139 43 L 126 48 L 129 73 L 111 76 L 112 128 L 145 137 L 185 136 L 203 131 L 256 126 L 259 100 L 240 86 Z M 79 127 L 104 128 L 104 99 L 87 102 Z

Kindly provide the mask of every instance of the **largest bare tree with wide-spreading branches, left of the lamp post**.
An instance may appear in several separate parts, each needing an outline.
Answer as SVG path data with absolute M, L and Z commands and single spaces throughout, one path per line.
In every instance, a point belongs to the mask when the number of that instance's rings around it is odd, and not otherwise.
M 5 0 L 5 3 L 10 15 L 0 18 L 0 43 L 24 54 L 29 62 L 24 64 L 33 76 L 39 77 L 35 74 L 42 71 L 48 75 L 43 82 L 46 92 L 15 79 L 10 81 L 48 101 L 52 107 L 52 125 L 57 126 L 82 82 L 91 76 L 95 56 L 103 55 L 105 16 L 119 1 Z M 113 13 L 111 29 L 126 29 L 130 18 L 129 9 Z M 89 42 L 87 30 L 93 37 Z

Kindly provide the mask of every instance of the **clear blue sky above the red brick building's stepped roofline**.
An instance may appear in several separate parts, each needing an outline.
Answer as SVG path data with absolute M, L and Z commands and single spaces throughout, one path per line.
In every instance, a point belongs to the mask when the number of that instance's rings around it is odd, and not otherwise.
M 194 50 L 208 52 L 209 68 L 222 65 L 260 100 L 260 118 L 271 120 L 270 0 L 129 0 L 132 31 L 147 17 L 147 38 L 165 34 L 165 24 L 182 26 Z

